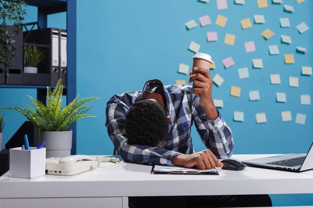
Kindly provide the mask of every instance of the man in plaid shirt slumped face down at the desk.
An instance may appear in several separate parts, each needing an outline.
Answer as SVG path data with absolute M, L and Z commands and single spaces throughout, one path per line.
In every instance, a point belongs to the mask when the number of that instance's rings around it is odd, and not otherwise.
M 212 79 L 207 69 L 194 68 L 188 85 L 164 86 L 148 80 L 141 91 L 114 95 L 106 106 L 109 137 L 128 162 L 211 169 L 233 152 L 229 126 L 212 100 Z M 194 123 L 206 150 L 195 152 L 190 138 Z M 243 204 L 242 204 L 243 203 Z M 130 208 L 262 207 L 264 196 L 131 197 Z

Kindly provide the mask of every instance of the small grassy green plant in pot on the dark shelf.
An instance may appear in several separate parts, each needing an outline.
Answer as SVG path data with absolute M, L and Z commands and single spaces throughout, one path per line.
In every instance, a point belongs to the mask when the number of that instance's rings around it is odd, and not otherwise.
M 24 45 L 24 73 L 37 73 L 44 51 L 34 45 Z

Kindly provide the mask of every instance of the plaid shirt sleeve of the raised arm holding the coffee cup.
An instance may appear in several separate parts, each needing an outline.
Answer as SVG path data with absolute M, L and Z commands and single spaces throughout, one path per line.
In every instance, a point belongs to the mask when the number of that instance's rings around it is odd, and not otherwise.
M 205 111 L 199 104 L 199 97 L 193 95 L 191 112 L 194 124 L 205 147 L 220 159 L 230 158 L 233 152 L 233 138 L 230 127 L 226 124 L 221 114 L 215 120 L 205 117 Z

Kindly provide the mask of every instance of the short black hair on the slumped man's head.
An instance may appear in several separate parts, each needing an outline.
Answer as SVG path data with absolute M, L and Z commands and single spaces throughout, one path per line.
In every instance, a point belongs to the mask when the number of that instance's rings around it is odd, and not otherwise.
M 168 122 L 164 109 L 155 101 L 141 100 L 131 105 L 125 116 L 128 144 L 156 147 L 165 140 Z

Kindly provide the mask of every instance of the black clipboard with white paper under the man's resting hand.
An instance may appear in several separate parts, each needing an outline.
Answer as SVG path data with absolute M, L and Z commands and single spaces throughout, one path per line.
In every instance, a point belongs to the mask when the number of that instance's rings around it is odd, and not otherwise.
M 172 175 L 219 175 L 217 170 L 198 170 L 177 166 L 159 166 L 153 165 L 150 174 L 172 174 Z

